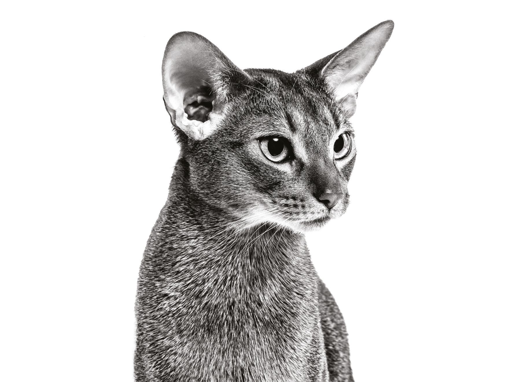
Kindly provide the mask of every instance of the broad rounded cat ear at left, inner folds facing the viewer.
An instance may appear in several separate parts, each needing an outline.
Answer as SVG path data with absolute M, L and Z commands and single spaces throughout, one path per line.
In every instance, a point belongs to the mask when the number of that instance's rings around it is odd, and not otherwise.
M 205 37 L 175 34 L 162 61 L 163 99 L 172 124 L 194 140 L 205 139 L 222 118 L 232 87 L 248 78 Z

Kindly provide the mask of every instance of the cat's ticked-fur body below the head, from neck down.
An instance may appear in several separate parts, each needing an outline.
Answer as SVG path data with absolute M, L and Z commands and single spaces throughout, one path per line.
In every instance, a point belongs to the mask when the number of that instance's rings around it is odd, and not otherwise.
M 239 237 L 220 211 L 179 199 L 161 211 L 142 264 L 138 380 L 328 381 L 324 330 L 343 361 L 333 380 L 348 380 L 343 320 L 304 237 L 270 224 Z

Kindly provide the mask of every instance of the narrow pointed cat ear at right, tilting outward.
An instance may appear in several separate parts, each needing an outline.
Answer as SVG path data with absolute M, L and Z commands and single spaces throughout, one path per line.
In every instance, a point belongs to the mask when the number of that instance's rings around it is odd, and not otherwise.
M 304 70 L 325 79 L 343 111 L 355 113 L 357 92 L 389 39 L 394 22 L 387 20 L 357 37 L 346 48 L 317 61 Z

